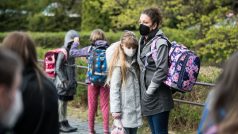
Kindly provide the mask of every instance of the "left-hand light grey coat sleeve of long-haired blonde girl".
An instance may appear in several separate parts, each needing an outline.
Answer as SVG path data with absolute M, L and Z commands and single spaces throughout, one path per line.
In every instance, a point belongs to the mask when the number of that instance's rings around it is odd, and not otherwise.
M 121 69 L 115 67 L 110 81 L 110 108 L 111 113 L 121 112 Z

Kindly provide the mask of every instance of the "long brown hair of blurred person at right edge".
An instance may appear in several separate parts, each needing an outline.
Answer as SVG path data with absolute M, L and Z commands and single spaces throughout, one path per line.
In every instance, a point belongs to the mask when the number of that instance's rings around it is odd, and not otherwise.
M 226 62 L 215 86 L 212 116 L 219 124 L 219 133 L 237 133 L 238 127 L 238 52 Z M 221 116 L 225 112 L 225 117 Z M 234 131 L 236 129 L 236 131 Z

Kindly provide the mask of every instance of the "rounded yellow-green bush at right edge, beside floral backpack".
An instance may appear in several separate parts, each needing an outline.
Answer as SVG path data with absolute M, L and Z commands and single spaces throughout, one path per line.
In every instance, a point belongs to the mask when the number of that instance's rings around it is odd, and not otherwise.
M 211 28 L 204 39 L 196 41 L 198 55 L 207 64 L 220 64 L 238 50 L 238 26 Z

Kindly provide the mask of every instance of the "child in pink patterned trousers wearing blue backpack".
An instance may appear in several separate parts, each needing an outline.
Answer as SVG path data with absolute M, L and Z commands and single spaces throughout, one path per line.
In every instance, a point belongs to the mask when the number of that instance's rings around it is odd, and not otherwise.
M 98 96 L 103 115 L 104 134 L 109 134 L 109 88 L 105 86 L 107 76 L 106 49 L 108 43 L 101 29 L 93 30 L 90 36 L 91 45 L 82 49 L 79 46 L 79 38 L 75 39 L 70 56 L 87 57 L 88 71 L 86 83 L 88 84 L 88 126 L 89 133 L 95 134 L 94 121 L 97 111 Z

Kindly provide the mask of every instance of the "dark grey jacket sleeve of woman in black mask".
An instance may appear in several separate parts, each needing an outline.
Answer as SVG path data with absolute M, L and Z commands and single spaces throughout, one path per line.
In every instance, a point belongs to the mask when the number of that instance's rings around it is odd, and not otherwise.
M 158 42 L 159 43 L 159 42 Z M 157 44 L 159 45 L 159 44 Z M 160 84 L 166 79 L 168 73 L 168 58 L 169 58 L 169 50 L 168 45 L 163 43 L 159 45 L 158 55 L 156 56 L 156 71 L 152 77 L 151 83 L 147 89 L 148 94 L 153 94 L 156 89 L 160 86 Z

